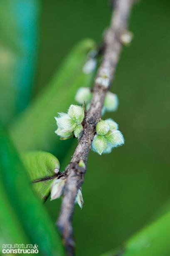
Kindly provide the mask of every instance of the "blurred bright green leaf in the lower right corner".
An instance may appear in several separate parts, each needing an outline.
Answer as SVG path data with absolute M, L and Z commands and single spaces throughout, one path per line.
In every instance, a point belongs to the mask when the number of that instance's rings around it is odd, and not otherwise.
M 102 256 L 169 256 L 170 212 L 132 236 L 121 250 L 110 251 Z

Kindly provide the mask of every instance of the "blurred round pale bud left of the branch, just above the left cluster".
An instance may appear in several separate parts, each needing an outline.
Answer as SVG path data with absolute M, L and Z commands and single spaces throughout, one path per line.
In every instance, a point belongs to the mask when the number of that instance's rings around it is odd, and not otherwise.
M 92 98 L 92 93 L 89 87 L 80 87 L 75 96 L 75 100 L 79 104 L 83 104 L 84 101 L 85 103 L 89 103 L 91 101 L 91 98 Z

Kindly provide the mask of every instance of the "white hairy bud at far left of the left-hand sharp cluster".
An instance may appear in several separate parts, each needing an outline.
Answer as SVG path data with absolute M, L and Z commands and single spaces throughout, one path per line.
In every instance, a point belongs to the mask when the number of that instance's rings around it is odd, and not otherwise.
M 73 132 L 76 128 L 76 123 L 74 122 L 68 114 L 58 113 L 59 117 L 55 117 L 57 126 L 60 130 L 64 130 L 64 132 Z

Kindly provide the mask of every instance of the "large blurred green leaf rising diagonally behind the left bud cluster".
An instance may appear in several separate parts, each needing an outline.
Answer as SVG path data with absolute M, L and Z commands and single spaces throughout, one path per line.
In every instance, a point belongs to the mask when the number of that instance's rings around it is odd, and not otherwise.
M 57 128 L 54 116 L 57 112 L 67 111 L 80 86 L 91 85 L 94 74 L 84 74 L 82 67 L 87 53 L 94 47 L 95 43 L 90 39 L 76 45 L 47 88 L 10 127 L 12 139 L 19 150 L 52 152 L 55 148 L 59 160 L 65 155 L 72 139 L 63 142 L 54 134 Z

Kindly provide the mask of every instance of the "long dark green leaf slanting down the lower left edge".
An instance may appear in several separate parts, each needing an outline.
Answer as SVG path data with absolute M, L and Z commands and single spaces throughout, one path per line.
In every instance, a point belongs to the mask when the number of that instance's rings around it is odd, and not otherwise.
M 5 130 L 0 127 L 0 178 L 11 207 L 41 255 L 63 255 L 59 235 L 44 205 L 34 195 L 27 171 Z

